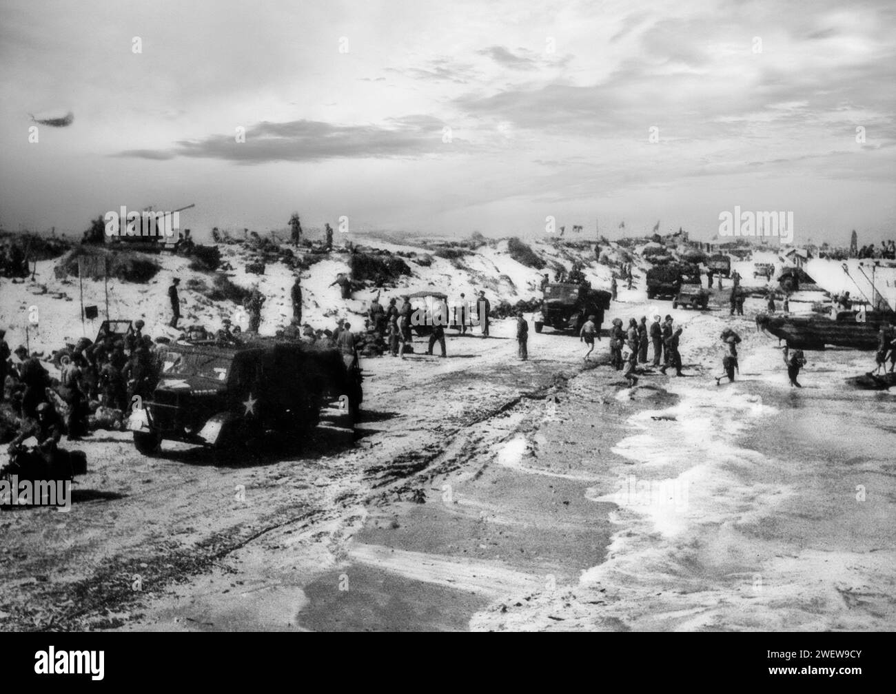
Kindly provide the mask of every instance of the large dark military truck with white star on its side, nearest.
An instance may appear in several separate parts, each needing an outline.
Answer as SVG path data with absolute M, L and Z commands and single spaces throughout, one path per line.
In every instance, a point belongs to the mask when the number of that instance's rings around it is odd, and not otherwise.
M 151 399 L 128 419 L 147 455 L 166 439 L 217 450 L 269 432 L 301 439 L 326 402 L 338 400 L 354 422 L 363 399 L 357 357 L 332 347 L 258 338 L 236 347 L 177 343 L 157 356 Z

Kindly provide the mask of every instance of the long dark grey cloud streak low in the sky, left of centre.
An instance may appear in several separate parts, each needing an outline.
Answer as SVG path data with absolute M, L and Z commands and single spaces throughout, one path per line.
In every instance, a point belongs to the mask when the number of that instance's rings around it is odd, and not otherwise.
M 385 124 L 339 125 L 298 120 L 264 121 L 246 129 L 246 141 L 234 135 L 210 135 L 198 141 L 178 141 L 170 150 L 125 150 L 117 157 L 139 159 L 224 159 L 237 164 L 323 159 L 413 158 L 442 154 L 443 121 L 414 115 L 387 119 Z M 452 150 L 461 144 L 452 138 Z

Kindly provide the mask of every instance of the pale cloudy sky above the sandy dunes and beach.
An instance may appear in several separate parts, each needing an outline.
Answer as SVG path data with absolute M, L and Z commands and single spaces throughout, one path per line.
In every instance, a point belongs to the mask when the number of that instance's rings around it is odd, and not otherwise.
M 4 0 L 0 224 L 708 238 L 740 205 L 880 240 L 894 30 L 892 0 Z

